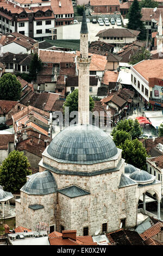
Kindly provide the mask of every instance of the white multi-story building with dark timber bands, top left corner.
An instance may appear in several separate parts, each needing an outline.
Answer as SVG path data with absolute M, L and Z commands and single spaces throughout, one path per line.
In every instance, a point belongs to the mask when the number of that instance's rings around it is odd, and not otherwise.
M 66 24 L 66 21 L 55 24 L 55 17 L 56 19 L 60 17 L 64 20 L 68 19 L 68 23 L 73 21 L 73 8 L 67 8 L 68 5 L 72 7 L 70 0 L 53 2 L 51 3 L 51 0 L 18 0 L 17 2 L 2 0 L 0 2 L 0 31 L 2 33 L 18 32 L 37 40 L 49 38 L 50 28 Z

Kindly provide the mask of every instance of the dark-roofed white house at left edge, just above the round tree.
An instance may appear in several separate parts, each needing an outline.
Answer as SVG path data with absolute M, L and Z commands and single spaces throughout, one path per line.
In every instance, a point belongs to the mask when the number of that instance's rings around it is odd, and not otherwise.
M 7 73 L 29 73 L 29 65 L 32 56 L 28 53 L 11 53 L 6 52 L 0 57 L 0 61 L 5 65 Z

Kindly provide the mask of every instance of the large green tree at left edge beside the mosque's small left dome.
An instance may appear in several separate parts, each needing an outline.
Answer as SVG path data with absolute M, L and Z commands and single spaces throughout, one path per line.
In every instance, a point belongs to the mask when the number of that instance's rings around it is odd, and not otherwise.
M 0 167 L 0 184 L 5 191 L 16 193 L 26 183 L 31 174 L 30 163 L 23 152 L 12 151 Z

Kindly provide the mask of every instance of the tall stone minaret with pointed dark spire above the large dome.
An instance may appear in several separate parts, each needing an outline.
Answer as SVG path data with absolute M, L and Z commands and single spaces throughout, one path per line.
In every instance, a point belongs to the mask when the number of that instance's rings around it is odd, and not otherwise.
M 90 110 L 90 63 L 88 56 L 88 30 L 85 10 L 80 31 L 80 56 L 77 57 L 78 72 L 78 124 L 89 124 Z

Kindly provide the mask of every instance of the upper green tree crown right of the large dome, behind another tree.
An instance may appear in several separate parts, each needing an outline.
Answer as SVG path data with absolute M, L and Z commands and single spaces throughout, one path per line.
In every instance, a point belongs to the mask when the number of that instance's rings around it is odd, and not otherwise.
M 117 126 L 114 127 L 111 135 L 114 136 L 116 131 L 126 131 L 129 132 L 132 139 L 139 138 L 142 134 L 142 129 L 140 127 L 137 119 L 124 119 L 117 123 Z

